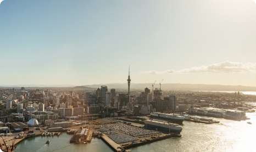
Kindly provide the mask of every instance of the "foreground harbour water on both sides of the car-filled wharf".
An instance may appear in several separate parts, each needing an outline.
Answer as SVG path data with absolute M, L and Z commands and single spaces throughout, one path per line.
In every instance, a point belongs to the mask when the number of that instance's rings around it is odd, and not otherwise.
M 218 119 L 220 123 L 203 124 L 184 122 L 182 137 L 169 138 L 132 148 L 131 151 L 255 151 L 256 112 L 247 113 L 251 120 L 232 121 Z M 247 122 L 252 122 L 252 125 Z M 101 139 L 94 138 L 86 145 L 70 144 L 70 135 L 48 137 L 51 144 L 46 145 L 47 137 L 27 139 L 18 144 L 15 151 L 112 151 Z

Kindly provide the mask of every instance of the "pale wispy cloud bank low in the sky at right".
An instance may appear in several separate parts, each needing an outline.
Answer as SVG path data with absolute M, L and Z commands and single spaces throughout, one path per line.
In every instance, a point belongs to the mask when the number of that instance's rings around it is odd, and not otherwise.
M 238 63 L 224 61 L 211 65 L 194 66 L 181 70 L 165 70 L 165 71 L 143 71 L 143 74 L 170 74 L 170 73 L 194 73 L 194 72 L 255 72 L 256 63 Z

